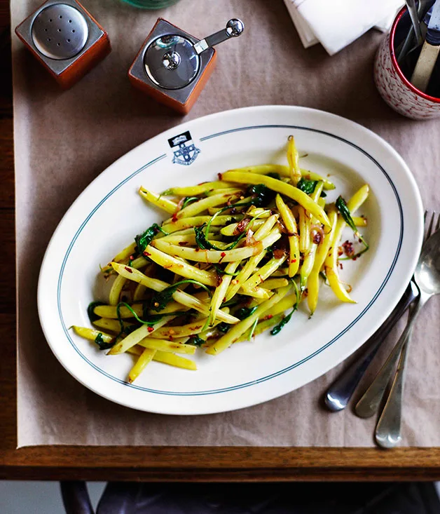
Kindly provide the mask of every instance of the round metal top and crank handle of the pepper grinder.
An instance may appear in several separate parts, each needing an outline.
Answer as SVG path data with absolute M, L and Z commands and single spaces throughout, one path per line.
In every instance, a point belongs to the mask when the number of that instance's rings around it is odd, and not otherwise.
M 149 79 L 159 88 L 181 89 L 200 72 L 200 54 L 208 48 L 237 37 L 245 29 L 238 19 L 229 20 L 226 28 L 194 43 L 181 34 L 165 34 L 152 41 L 144 53 L 144 67 Z

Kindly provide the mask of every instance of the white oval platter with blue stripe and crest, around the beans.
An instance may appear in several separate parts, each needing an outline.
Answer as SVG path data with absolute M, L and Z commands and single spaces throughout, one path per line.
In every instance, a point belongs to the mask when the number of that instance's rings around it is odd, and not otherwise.
M 349 198 L 369 183 L 362 208 L 371 248 L 345 262 L 343 280 L 356 304 L 341 304 L 323 287 L 312 318 L 299 311 L 277 336 L 262 334 L 219 356 L 199 351 L 198 371 L 151 363 L 134 384 L 130 355 L 106 356 L 69 330 L 90 326 L 99 264 L 106 264 L 163 215 L 137 194 L 215 180 L 217 173 L 259 163 L 285 163 L 293 134 L 301 166 L 331 175 Z M 182 137 L 177 137 L 182 135 Z M 41 267 L 41 325 L 60 363 L 99 395 L 139 410 L 207 414 L 271 400 L 316 379 L 359 348 L 403 294 L 422 242 L 422 203 L 403 159 L 370 130 L 303 107 L 249 107 L 183 123 L 144 142 L 99 175 L 64 215 Z M 318 392 L 317 392 L 318 394 Z

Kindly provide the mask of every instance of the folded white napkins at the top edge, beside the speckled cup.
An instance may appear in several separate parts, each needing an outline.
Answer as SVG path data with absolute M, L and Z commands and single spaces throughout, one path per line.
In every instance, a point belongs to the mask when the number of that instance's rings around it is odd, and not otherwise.
M 284 0 L 305 48 L 321 43 L 330 55 L 375 27 L 387 32 L 402 0 Z

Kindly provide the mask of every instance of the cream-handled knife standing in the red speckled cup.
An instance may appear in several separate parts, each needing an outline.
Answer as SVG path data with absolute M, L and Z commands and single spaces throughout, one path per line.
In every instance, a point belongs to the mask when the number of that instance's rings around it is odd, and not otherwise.
M 440 0 L 436 0 L 427 28 L 425 43 L 415 64 L 411 83 L 425 93 L 440 51 Z

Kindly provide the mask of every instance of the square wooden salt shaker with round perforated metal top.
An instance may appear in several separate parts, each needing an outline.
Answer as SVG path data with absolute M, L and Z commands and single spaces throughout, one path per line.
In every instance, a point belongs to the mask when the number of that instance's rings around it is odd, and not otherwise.
M 109 36 L 76 0 L 48 0 L 15 29 L 32 54 L 70 88 L 111 50 Z

